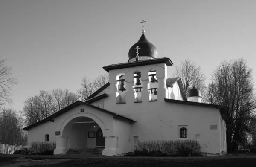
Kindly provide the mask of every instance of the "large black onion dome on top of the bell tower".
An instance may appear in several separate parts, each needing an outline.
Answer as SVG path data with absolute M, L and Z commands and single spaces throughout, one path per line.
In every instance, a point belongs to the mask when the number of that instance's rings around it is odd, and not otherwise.
M 157 58 L 158 57 L 158 52 L 156 46 L 154 46 L 152 43 L 148 42 L 147 38 L 145 37 L 144 33 L 142 33 L 139 41 L 135 43 L 133 46 L 131 46 L 128 56 L 129 60 L 131 58 L 136 58 L 137 55 L 137 50 L 135 50 L 136 46 L 139 46 L 140 49 L 138 50 L 139 52 L 139 57 L 140 56 L 149 56 L 152 58 Z

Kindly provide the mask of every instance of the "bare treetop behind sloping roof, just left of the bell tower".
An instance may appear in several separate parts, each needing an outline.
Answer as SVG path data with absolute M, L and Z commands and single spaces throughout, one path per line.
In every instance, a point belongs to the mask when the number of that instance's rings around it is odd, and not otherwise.
M 109 77 L 108 73 L 99 75 L 96 79 L 91 81 L 87 77 L 83 77 L 81 79 L 81 89 L 77 89 L 77 92 L 79 94 L 79 98 L 81 98 L 82 101 L 86 101 L 86 99 L 93 94 L 93 92 L 96 92 L 99 88 L 104 86 L 106 83 L 108 83 Z

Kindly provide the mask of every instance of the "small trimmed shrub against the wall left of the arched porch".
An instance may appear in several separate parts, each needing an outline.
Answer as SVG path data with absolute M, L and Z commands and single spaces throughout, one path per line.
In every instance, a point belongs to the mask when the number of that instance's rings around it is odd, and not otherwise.
M 53 150 L 56 148 L 56 142 L 31 142 L 29 153 L 31 155 L 52 155 Z

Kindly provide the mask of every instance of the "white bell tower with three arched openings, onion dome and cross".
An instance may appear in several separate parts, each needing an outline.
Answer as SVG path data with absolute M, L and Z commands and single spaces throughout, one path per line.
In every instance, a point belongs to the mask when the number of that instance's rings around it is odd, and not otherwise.
M 128 58 L 128 63 L 103 67 L 109 72 L 111 104 L 145 105 L 168 98 L 167 66 L 173 63 L 169 58 L 158 58 L 156 46 L 145 37 L 144 25 L 140 39 L 129 49 Z

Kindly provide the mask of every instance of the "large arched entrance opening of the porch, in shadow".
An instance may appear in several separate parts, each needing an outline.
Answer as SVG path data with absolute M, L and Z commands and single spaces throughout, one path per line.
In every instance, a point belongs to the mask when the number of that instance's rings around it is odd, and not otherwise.
M 100 131 L 101 135 L 97 136 Z M 62 136 L 68 137 L 68 149 L 104 148 L 105 137 L 99 124 L 88 117 L 76 117 L 70 120 L 64 127 Z M 100 144 L 100 145 L 99 145 Z

